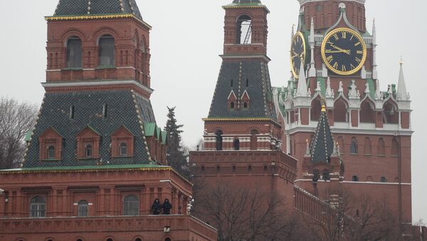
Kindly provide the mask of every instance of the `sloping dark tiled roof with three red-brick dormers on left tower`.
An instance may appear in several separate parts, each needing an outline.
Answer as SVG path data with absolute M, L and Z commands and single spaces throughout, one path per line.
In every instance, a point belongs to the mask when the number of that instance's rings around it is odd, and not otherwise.
M 137 102 L 140 115 L 137 113 L 134 100 Z M 107 104 L 105 118 L 102 117 L 104 104 Z M 71 106 L 75 109 L 74 119 L 70 119 Z M 46 93 L 23 167 L 95 166 L 99 159 L 76 161 L 76 135 L 88 126 L 102 135 L 100 141 L 102 164 L 107 165 L 108 162 L 111 165 L 149 164 L 149 154 L 138 116 L 143 122 L 155 122 L 149 100 L 133 94 L 130 90 Z M 122 126 L 135 136 L 134 157 L 112 159 L 110 136 Z M 53 127 L 63 136 L 61 161 L 38 161 L 38 137 L 49 127 Z

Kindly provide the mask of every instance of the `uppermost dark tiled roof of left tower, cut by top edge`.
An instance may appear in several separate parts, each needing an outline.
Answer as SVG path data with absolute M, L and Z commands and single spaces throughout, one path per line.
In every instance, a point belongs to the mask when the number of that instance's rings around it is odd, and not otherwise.
M 60 0 L 54 16 L 87 14 L 134 14 L 142 20 L 135 0 Z

